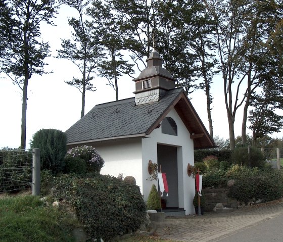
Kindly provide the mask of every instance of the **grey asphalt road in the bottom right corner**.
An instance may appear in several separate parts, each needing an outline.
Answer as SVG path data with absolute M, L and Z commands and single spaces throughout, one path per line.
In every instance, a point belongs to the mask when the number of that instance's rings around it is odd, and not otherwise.
M 283 241 L 283 214 L 240 229 L 217 242 L 273 242 Z

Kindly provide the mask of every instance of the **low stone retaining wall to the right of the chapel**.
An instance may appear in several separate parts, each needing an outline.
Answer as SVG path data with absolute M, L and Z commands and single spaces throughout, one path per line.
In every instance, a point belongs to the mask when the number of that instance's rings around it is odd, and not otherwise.
M 228 190 L 225 188 L 202 189 L 206 198 L 205 211 L 213 211 L 217 203 L 222 203 L 226 208 L 237 208 L 237 200 L 227 197 Z

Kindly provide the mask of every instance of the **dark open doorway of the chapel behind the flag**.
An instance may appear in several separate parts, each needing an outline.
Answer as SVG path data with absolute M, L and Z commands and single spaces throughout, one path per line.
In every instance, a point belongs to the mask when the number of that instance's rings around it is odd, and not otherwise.
M 178 208 L 178 167 L 177 167 L 177 148 L 157 144 L 157 163 L 158 171 L 161 165 L 161 171 L 166 173 L 169 196 L 166 197 L 166 192 L 163 198 L 166 198 L 167 208 Z

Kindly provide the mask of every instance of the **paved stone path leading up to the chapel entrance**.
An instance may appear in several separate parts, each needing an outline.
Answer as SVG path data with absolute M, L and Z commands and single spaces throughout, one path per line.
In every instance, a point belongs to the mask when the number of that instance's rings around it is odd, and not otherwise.
M 238 230 L 283 214 L 283 201 L 252 205 L 229 213 L 166 217 L 157 223 L 157 234 L 176 241 L 217 241 Z

